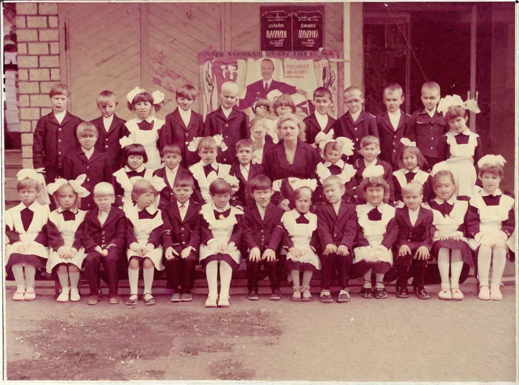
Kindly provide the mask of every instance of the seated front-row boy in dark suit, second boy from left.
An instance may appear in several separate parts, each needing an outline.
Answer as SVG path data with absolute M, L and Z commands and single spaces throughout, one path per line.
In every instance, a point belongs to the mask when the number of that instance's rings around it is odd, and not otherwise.
M 190 199 L 194 188 L 193 176 L 177 174 L 173 186 L 175 199 L 162 209 L 165 228 L 162 233 L 163 259 L 167 287 L 173 289 L 172 302 L 193 300 L 191 291 L 200 247 L 200 206 Z

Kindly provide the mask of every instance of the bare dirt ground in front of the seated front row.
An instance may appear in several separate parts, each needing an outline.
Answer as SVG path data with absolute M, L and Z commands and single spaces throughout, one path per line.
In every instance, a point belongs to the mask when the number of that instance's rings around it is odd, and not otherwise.
M 503 301 L 416 297 L 349 304 L 231 297 L 87 306 L 6 292 L 9 380 L 515 381 L 515 287 Z M 232 295 L 232 293 L 231 293 Z M 28 365 L 30 363 L 30 365 Z M 28 368 L 30 368 L 28 370 Z

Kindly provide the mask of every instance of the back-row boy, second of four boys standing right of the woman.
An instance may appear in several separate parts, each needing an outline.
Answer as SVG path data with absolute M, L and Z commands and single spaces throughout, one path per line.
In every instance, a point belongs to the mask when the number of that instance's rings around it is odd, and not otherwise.
M 360 140 L 364 136 L 378 137 L 377 122 L 371 114 L 363 111 L 363 104 L 364 91 L 362 89 L 359 87 L 346 88 L 344 90 L 344 105 L 348 108 L 348 112 L 337 119 L 330 127 L 334 132 L 334 139 L 338 136 L 345 136 L 354 143 L 356 151 L 348 159 L 350 164 L 361 157 L 358 150 L 360 149 Z

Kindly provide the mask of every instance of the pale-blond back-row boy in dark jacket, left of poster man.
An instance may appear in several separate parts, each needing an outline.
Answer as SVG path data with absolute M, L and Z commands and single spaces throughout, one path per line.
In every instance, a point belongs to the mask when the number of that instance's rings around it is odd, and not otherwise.
M 227 146 L 225 151 L 218 150 L 218 163 L 232 164 L 236 142 L 250 137 L 248 116 L 233 108 L 237 100 L 238 85 L 234 81 L 224 82 L 220 93 L 220 108 L 206 117 L 204 136 L 220 134 Z

